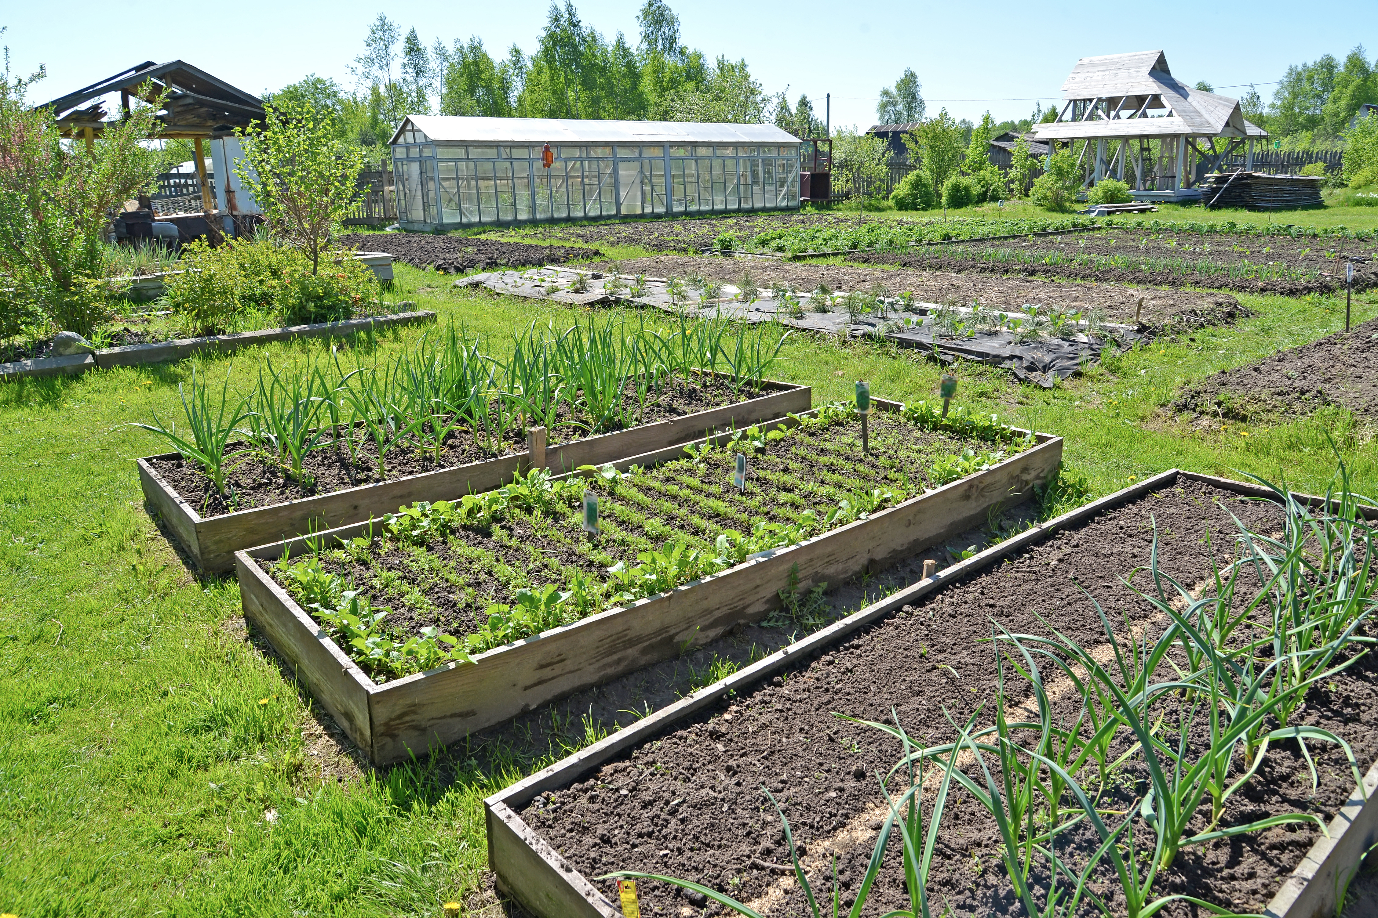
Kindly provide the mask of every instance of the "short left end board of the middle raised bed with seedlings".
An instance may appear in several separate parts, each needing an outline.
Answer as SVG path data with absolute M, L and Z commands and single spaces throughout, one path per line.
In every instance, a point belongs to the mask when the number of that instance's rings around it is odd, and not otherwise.
M 238 574 L 244 615 L 287 658 L 350 739 L 368 749 L 368 694 L 373 683 L 270 577 L 245 564 L 240 564 Z

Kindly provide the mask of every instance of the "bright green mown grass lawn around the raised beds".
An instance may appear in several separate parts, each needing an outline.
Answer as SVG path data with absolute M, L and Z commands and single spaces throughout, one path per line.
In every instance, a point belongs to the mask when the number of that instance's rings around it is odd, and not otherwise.
M 489 337 L 579 311 L 455 292 L 398 267 L 408 299 Z M 1071 475 L 1101 495 L 1182 467 L 1322 490 L 1335 462 L 1378 493 L 1372 429 L 1327 413 L 1272 429 L 1189 432 L 1180 387 L 1344 322 L 1344 300 L 1240 297 L 1257 318 L 1153 345 L 1050 391 L 959 370 L 958 402 L 1067 438 Z M 1355 318 L 1378 315 L 1356 300 Z M 648 321 L 657 321 L 655 315 Z M 372 345 L 395 354 L 422 334 Z M 274 344 L 197 361 L 245 385 Z M 814 399 L 933 398 L 940 370 L 885 345 L 795 334 L 779 378 Z M 360 773 L 325 762 L 310 699 L 245 639 L 233 578 L 200 579 L 143 511 L 132 460 L 165 447 L 125 427 L 176 417 L 192 362 L 0 385 L 0 912 L 55 915 L 437 915 L 482 884 L 482 798 L 536 761 L 482 773 L 457 756 Z

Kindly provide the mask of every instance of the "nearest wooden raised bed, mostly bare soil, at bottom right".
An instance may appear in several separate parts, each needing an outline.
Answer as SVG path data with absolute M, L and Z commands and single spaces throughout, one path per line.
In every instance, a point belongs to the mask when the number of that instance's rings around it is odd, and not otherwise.
M 911 736 L 912 749 L 941 750 L 941 743 L 959 736 L 954 724 L 973 718 L 980 728 L 994 720 L 992 699 L 1003 684 L 1017 685 L 1020 692 L 1006 690 L 1010 721 L 1032 720 L 1036 725 L 1039 712 L 1047 710 L 1051 723 L 1076 724 L 1082 695 L 1051 658 L 1035 652 L 1043 670 L 1046 707 L 1035 703 L 1032 692 L 1022 692 L 1028 683 L 1013 662 L 1006 662 L 1000 673 L 989 640 L 1002 633 L 995 622 L 1016 634 L 1047 636 L 1057 628 L 1084 648 L 1087 659 L 1113 668 L 1107 625 L 1082 589 L 1104 606 L 1119 629 L 1119 652 L 1129 654 L 1133 643 L 1155 647 L 1156 641 L 1171 641 L 1181 632 L 1169 630 L 1173 619 L 1166 608 L 1145 601 L 1124 582 L 1156 596 L 1148 567 L 1155 559 L 1155 535 L 1158 573 L 1191 590 L 1189 597 L 1180 597 L 1175 586 L 1164 584 L 1170 600 L 1164 606 L 1175 603 L 1178 612 L 1191 603 L 1214 608 L 1211 585 L 1218 581 L 1213 571 L 1240 557 L 1236 519 L 1261 534 L 1246 537 L 1253 549 L 1286 529 L 1283 508 L 1269 498 L 1275 501 L 1276 493 L 1206 475 L 1158 475 L 956 563 L 639 720 L 485 801 L 489 866 L 499 886 L 540 918 L 616 918 L 621 914 L 615 906 L 616 888 L 612 879 L 602 878 L 615 871 L 697 881 L 768 917 L 808 914 L 765 786 L 790 820 L 799 859 L 820 901 L 831 900 L 836 875 L 842 907 L 850 908 L 889 812 L 876 776 L 887 775 L 904 749 L 894 736 L 835 713 L 892 727 L 898 723 Z M 1324 504 L 1294 500 L 1317 515 Z M 1371 506 L 1360 513 L 1378 519 L 1378 509 Z M 1309 520 L 1298 523 L 1295 531 L 1308 527 Z M 1360 555 L 1364 538 L 1359 537 Z M 1357 582 L 1371 575 L 1371 568 L 1363 570 Z M 1222 577 L 1228 579 L 1228 574 Z M 1199 599 L 1203 595 L 1206 599 Z M 1242 595 L 1240 606 L 1251 596 Z M 1196 621 L 1195 612 L 1184 614 Z M 1124 634 L 1129 626 L 1133 639 Z M 1029 639 L 1025 643 L 1035 645 Z M 1011 641 L 1002 640 L 1002 645 L 1010 650 Z M 1357 645 L 1342 659 L 1350 659 L 1353 650 Z M 1009 659 L 1024 663 L 1013 650 Z M 1163 669 L 1169 669 L 1167 663 Z M 1078 672 L 1084 677 L 1084 669 Z M 1180 676 L 1164 672 L 1159 679 L 1167 683 Z M 1360 768 L 1367 767 L 1378 760 L 1378 735 L 1372 731 L 1375 688 L 1378 665 L 1364 657 L 1312 685 L 1290 723 L 1344 736 Z M 1155 731 L 1163 731 L 1158 735 L 1164 749 L 1175 749 L 1173 717 L 1181 707 L 1174 707 L 1173 699 L 1178 696 L 1155 698 L 1153 717 L 1163 714 Z M 1203 720 L 1209 718 L 1203 714 Z M 1192 736 L 1193 743 L 1209 739 L 1200 729 Z M 1028 732 L 1016 738 L 1032 742 Z M 996 738 L 988 735 L 980 742 L 996 743 Z M 1231 912 L 1266 908 L 1276 918 L 1334 914 L 1337 897 L 1378 838 L 1378 802 L 1366 802 L 1378 789 L 1378 765 L 1367 771 L 1360 791 L 1335 743 L 1316 736 L 1308 742 L 1317 772 L 1315 790 L 1295 740 L 1277 739 L 1258 772 L 1226 798 L 1220 826 L 1244 827 L 1284 813 L 1301 813 L 1304 822 L 1184 845 L 1158 877 L 1149 899 L 1185 893 Z M 1112 769 L 1101 802 L 1111 827 L 1119 827 L 1126 813 L 1141 812 L 1149 786 L 1148 771 L 1135 767 L 1134 750 L 1127 746 L 1124 736 L 1116 736 L 1108 756 L 1130 753 L 1119 778 Z M 1000 782 L 999 761 L 989 747 L 984 758 L 995 782 Z M 926 756 L 925 761 L 923 816 L 932 820 L 944 769 L 938 765 L 941 754 Z M 987 789 L 970 751 L 958 768 L 977 789 Z M 1094 761 L 1089 771 L 1096 771 Z M 1229 782 L 1243 771 L 1236 765 Z M 1086 773 L 1078 773 L 1087 780 Z M 908 786 L 904 769 L 889 784 L 896 800 Z M 1186 809 L 1188 815 L 1195 812 L 1191 831 L 1206 827 L 1209 796 L 1206 801 L 1200 812 Z M 1071 794 L 1062 805 L 1067 815 L 1080 812 Z M 1163 811 L 1156 812 L 1162 819 Z M 1319 830 L 1322 823 L 1328 823 L 1328 837 Z M 1007 879 L 1002 862 L 1006 846 L 994 819 L 956 782 L 938 824 L 926 877 L 933 914 L 1024 914 Z M 1018 840 L 1018 829 L 1014 831 Z M 1142 816 L 1131 831 L 1141 852 L 1153 852 L 1153 833 Z M 1126 838 L 1120 835 L 1122 842 Z M 921 851 L 923 844 L 921 834 Z M 1075 874 L 1098 844 L 1083 819 L 1060 835 L 1057 853 Z M 865 914 L 909 907 L 897 830 L 885 851 Z M 1042 907 L 1049 885 L 1046 859 L 1034 864 L 1029 877 L 1035 904 Z M 1098 870 L 1091 879 L 1091 892 L 1111 912 L 1124 914 L 1124 896 L 1113 874 Z M 1065 885 L 1060 882 L 1060 889 Z M 706 901 L 701 893 L 685 895 L 645 878 L 639 895 L 644 914 L 699 915 Z M 1086 914 L 1098 914 L 1089 897 L 1082 904 Z M 1209 910 L 1178 900 L 1159 914 L 1185 917 Z

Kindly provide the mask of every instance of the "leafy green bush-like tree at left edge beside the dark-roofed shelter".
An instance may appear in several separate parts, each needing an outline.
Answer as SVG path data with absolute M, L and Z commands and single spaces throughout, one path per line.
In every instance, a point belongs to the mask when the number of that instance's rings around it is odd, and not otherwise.
M 3 32 L 3 29 L 0 29 Z M 91 334 L 109 314 L 105 234 L 107 213 L 145 190 L 160 153 L 160 106 L 134 105 L 106 124 L 90 147 L 63 143 L 51 109 L 32 110 L 28 87 L 40 70 L 17 77 L 4 50 L 0 80 L 0 336 L 50 325 Z

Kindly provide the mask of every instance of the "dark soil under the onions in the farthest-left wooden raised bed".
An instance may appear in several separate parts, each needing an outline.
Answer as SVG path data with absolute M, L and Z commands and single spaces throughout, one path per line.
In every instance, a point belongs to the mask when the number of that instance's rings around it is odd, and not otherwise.
M 744 402 L 754 395 L 755 392 L 745 391 L 734 395 L 732 387 L 721 380 L 689 385 L 677 384 L 672 389 L 667 389 L 659 401 L 649 402 L 641 418 L 644 424 L 653 424 L 733 402 Z M 628 395 L 627 405 L 635 405 L 631 395 Z M 562 416 L 568 418 L 568 412 L 565 409 L 562 412 Z M 561 436 L 559 432 L 551 432 L 550 436 L 551 443 L 577 439 L 576 436 Z M 367 434 L 360 429 L 356 438 L 367 438 Z M 243 445 L 230 449 L 240 447 Z M 435 460 L 434 453 L 420 454 L 415 449 L 395 447 L 384 457 L 383 467 L 387 475 L 380 478 L 378 449 L 372 442 L 362 443 L 358 449 L 358 457 L 353 462 L 343 445 L 339 447 L 325 446 L 310 453 L 302 464 L 307 479 L 305 484 L 291 478 L 276 464 L 252 457 L 226 476 L 226 494 L 223 495 L 216 493 L 215 484 L 196 462 L 183 458 L 152 460 L 150 462 L 154 471 L 172 486 L 172 490 L 194 506 L 201 516 L 218 516 L 254 506 L 269 506 L 303 497 L 329 494 L 360 484 L 434 472 L 441 468 L 520 453 L 525 449 L 526 434 L 524 429 L 510 431 L 507 442 L 499 450 L 477 443 L 467 429 L 453 431 L 445 436 L 440 461 Z

